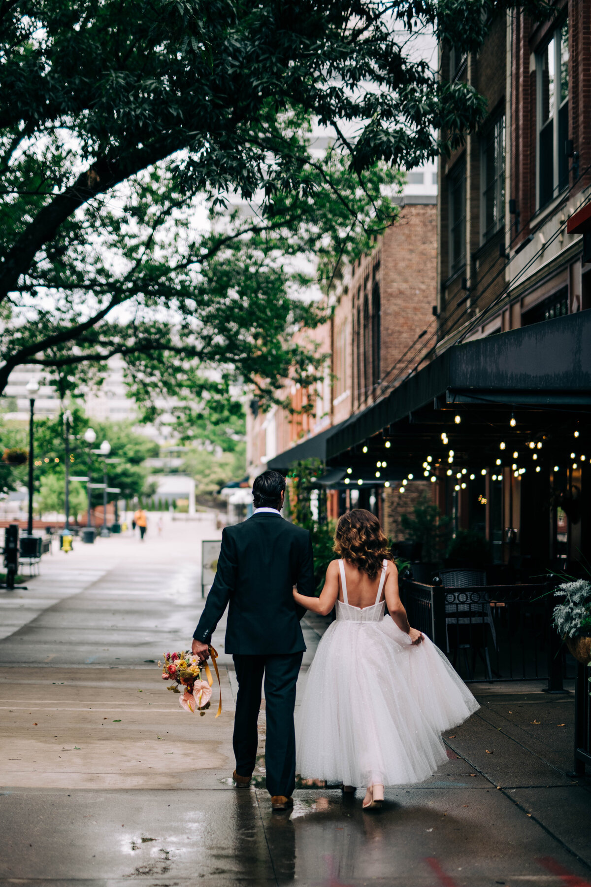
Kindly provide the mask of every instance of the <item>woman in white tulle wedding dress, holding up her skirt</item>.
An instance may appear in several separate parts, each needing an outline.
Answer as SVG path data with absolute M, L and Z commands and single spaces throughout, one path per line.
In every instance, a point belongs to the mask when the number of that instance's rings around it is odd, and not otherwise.
M 398 570 L 375 514 L 355 508 L 338 521 L 335 553 L 320 597 L 296 591 L 323 616 L 337 605 L 307 674 L 296 725 L 305 779 L 367 786 L 363 808 L 384 786 L 422 782 L 447 760 L 441 733 L 479 706 L 447 657 L 411 628 Z M 385 615 L 385 606 L 388 615 Z

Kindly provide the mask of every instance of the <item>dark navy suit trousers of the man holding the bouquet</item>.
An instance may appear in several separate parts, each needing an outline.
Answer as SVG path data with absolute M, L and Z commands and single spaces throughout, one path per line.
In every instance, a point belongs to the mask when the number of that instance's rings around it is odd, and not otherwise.
M 265 677 L 267 739 L 265 769 L 270 795 L 291 797 L 295 787 L 296 682 L 303 653 L 233 656 L 238 682 L 234 718 L 234 755 L 239 776 L 250 776 L 256 764 L 257 720 Z

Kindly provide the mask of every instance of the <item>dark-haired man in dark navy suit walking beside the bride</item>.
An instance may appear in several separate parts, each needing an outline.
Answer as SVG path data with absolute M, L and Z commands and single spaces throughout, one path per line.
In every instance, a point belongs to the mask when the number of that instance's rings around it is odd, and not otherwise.
M 205 659 L 215 626 L 229 603 L 225 652 L 236 667 L 234 719 L 237 786 L 247 787 L 257 752 L 257 718 L 265 678 L 267 789 L 274 810 L 293 805 L 296 681 L 306 649 L 292 587 L 314 597 L 314 558 L 308 530 L 284 521 L 285 479 L 265 471 L 253 483 L 254 514 L 226 527 L 214 585 L 193 634 L 192 651 Z

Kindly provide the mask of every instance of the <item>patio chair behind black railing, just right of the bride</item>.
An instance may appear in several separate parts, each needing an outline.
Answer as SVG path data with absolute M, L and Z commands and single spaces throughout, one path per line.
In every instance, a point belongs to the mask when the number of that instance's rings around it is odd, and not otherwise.
M 455 637 L 454 665 L 458 650 L 462 650 L 464 665 L 469 679 L 472 678 L 476 655 L 484 661 L 486 677 L 493 679 L 490 657 L 488 655 L 487 628 L 490 629 L 493 644 L 496 647 L 493 615 L 490 598 L 486 591 L 478 591 L 478 586 L 486 585 L 486 573 L 482 569 L 442 569 L 439 573 L 445 589 L 470 588 L 470 591 L 446 591 L 446 640 L 447 653 L 450 652 L 449 636 Z M 460 616 L 465 613 L 466 616 Z M 449 625 L 456 625 L 455 632 L 449 631 Z M 461 628 L 467 626 L 470 628 Z M 468 651 L 472 649 L 472 665 L 468 659 Z

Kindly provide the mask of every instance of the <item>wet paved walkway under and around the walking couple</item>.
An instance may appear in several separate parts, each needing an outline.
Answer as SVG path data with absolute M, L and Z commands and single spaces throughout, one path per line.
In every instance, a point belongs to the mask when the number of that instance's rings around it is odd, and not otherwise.
M 231 659 L 217 719 L 181 710 L 150 661 L 187 645 L 211 532 L 101 540 L 0 600 L 0 884 L 591 887 L 572 693 L 474 687 L 482 708 L 446 735 L 447 765 L 386 789 L 379 812 L 362 812 L 361 789 L 299 788 L 276 814 L 264 789 L 233 788 Z M 310 619 L 308 662 L 321 633 Z M 262 751 L 264 712 L 260 730 Z

